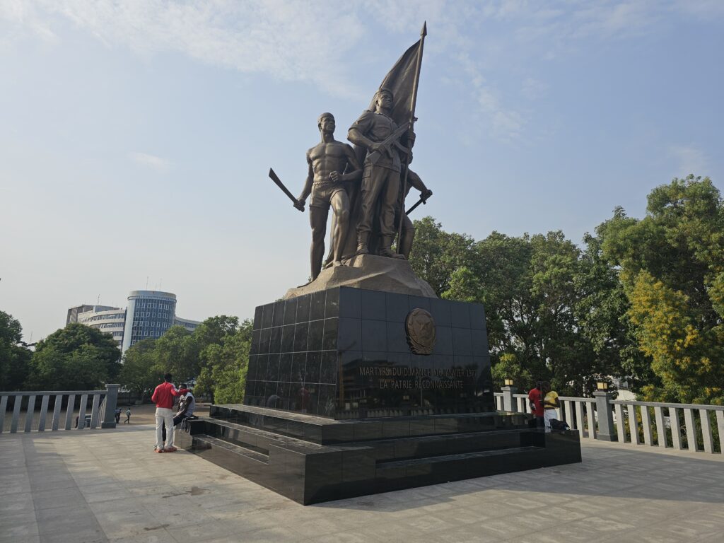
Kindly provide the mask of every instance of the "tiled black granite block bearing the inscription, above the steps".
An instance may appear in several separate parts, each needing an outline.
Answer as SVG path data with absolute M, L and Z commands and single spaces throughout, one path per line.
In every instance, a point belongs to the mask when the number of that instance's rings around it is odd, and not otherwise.
M 429 355 L 408 345 L 414 309 L 434 323 Z M 259 306 L 244 403 L 337 419 L 494 411 L 484 308 L 351 287 Z

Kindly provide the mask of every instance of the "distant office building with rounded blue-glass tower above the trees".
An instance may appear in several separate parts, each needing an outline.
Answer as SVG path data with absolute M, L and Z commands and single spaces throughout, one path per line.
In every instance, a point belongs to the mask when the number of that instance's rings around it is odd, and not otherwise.
M 68 309 L 66 323 L 80 322 L 113 335 L 125 352 L 134 343 L 161 337 L 172 326 L 193 332 L 200 321 L 176 316 L 176 295 L 159 290 L 132 290 L 125 309 L 83 304 Z

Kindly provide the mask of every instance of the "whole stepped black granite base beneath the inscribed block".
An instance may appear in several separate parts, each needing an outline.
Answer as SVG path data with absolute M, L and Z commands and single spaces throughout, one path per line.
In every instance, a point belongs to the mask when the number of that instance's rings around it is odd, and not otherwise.
M 336 421 L 214 405 L 176 443 L 303 505 L 581 461 L 577 432 L 521 413 Z

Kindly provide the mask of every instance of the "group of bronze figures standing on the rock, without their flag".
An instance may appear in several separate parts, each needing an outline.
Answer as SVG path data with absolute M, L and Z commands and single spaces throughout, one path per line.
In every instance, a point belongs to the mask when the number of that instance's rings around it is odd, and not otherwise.
M 308 176 L 295 202 L 295 207 L 303 210 L 311 195 L 312 280 L 323 267 L 330 208 L 334 211 L 332 248 L 324 267 L 340 266 L 353 256 L 370 253 L 400 259 L 410 256 L 414 230 L 404 211 L 405 196 L 414 187 L 425 201 L 432 191 L 410 169 L 405 172 L 407 186 L 403 189 L 401 173 L 412 159 L 415 134 L 392 119 L 392 101 L 391 90 L 380 88 L 376 92 L 374 111 L 364 111 L 348 132 L 356 148 L 334 139 L 331 113 L 319 117 L 321 142 L 307 151 Z M 397 252 L 393 252 L 392 241 L 398 230 L 401 235 Z

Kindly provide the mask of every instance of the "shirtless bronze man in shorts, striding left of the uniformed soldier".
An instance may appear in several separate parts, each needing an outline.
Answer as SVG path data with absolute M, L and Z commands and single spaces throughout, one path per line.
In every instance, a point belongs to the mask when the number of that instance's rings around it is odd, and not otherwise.
M 342 249 L 350 217 L 350 201 L 342 182 L 358 180 L 362 173 L 352 146 L 334 139 L 334 115 L 321 114 L 317 126 L 321 133 L 321 143 L 307 151 L 309 172 L 302 193 L 294 204 L 295 208 L 303 210 L 304 202 L 311 193 L 309 224 L 312 227 L 312 281 L 321 271 L 329 206 L 334 209 L 337 224 L 332 232 L 332 265 L 342 264 Z M 345 169 L 350 171 L 344 173 Z

